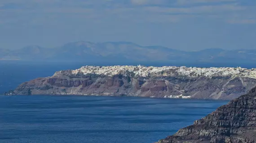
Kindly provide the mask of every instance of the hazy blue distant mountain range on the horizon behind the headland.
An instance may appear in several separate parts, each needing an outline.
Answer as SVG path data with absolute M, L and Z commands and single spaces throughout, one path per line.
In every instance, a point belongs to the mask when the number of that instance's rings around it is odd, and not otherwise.
M 163 46 L 140 46 L 132 42 L 71 42 L 56 48 L 26 46 L 0 49 L 1 60 L 24 61 L 139 61 L 139 62 L 230 62 L 254 63 L 256 50 L 174 50 Z

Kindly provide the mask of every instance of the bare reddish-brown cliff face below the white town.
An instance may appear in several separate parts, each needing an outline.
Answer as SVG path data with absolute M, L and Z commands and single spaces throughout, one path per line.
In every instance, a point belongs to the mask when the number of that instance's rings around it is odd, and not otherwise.
M 166 73 L 172 71 L 165 71 Z M 19 85 L 12 94 L 18 95 L 106 95 L 170 97 L 183 95 L 201 99 L 234 99 L 254 86 L 256 79 L 240 76 L 181 76 L 152 73 L 135 76 L 121 71 L 107 76 L 57 71 L 53 76 L 38 78 Z M 9 94 L 10 93 L 6 93 Z

